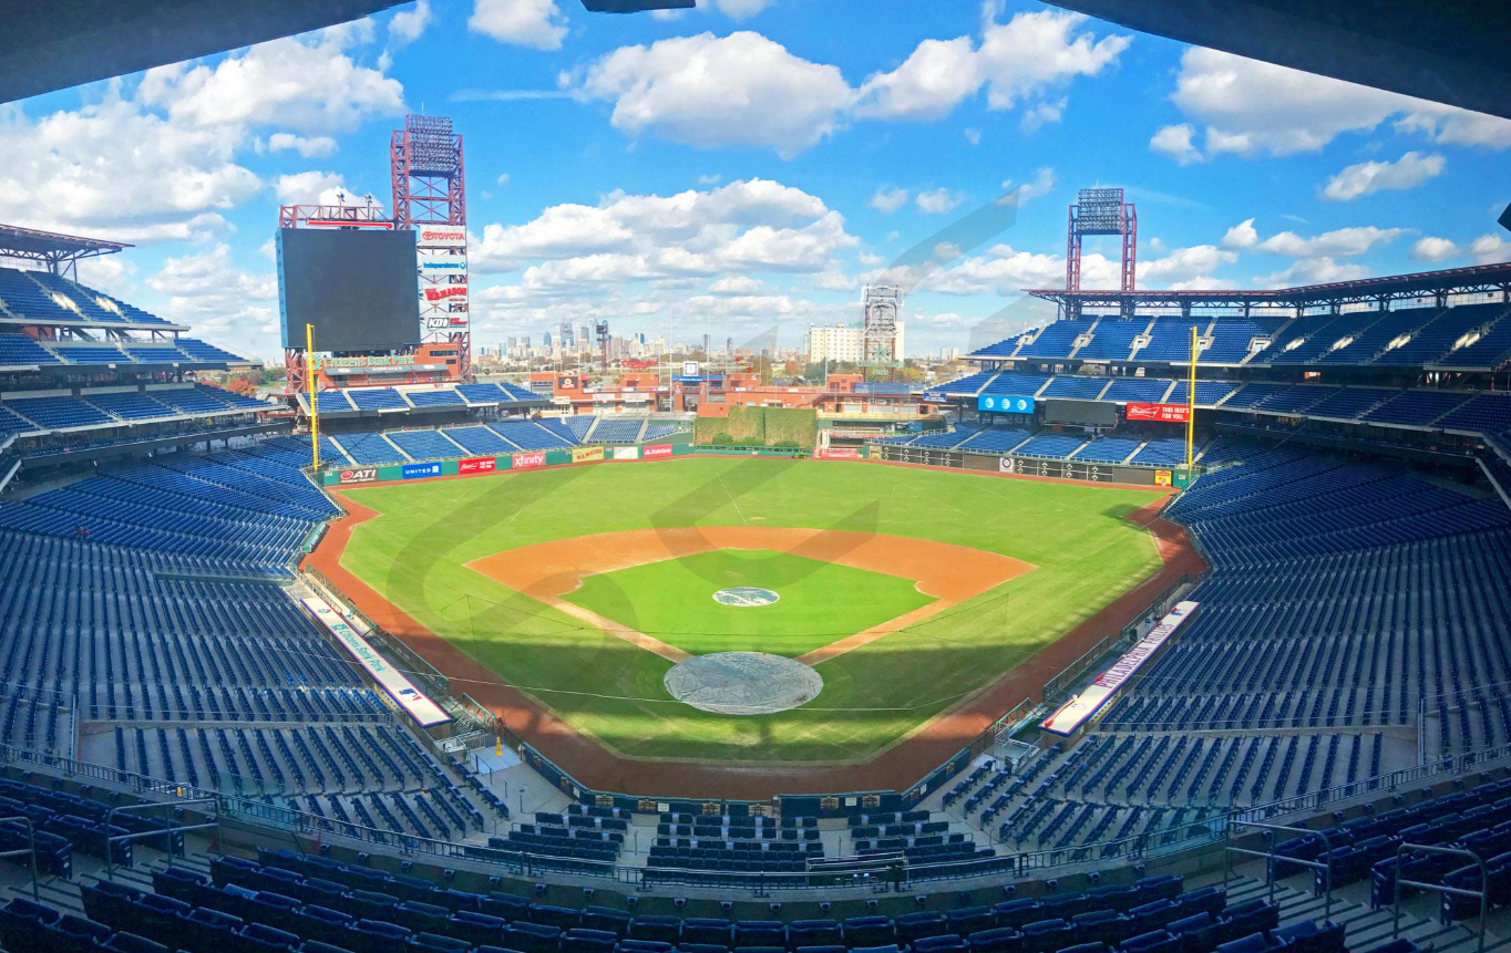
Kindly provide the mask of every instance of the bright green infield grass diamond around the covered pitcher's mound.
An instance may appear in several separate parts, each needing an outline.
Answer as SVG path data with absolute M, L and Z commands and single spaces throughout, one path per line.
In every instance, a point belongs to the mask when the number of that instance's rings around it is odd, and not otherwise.
M 722 606 L 719 589 L 771 589 L 771 606 Z M 600 572 L 567 600 L 668 645 L 798 657 L 934 600 L 913 580 L 768 550 L 718 550 Z

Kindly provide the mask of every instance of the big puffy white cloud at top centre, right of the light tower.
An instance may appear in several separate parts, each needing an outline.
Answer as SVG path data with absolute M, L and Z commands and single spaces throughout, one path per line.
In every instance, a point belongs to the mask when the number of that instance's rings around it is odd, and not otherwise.
M 837 66 L 751 32 L 621 47 L 588 68 L 580 92 L 612 101 L 610 122 L 630 134 L 653 131 L 698 148 L 763 146 L 783 157 L 833 133 L 852 98 Z

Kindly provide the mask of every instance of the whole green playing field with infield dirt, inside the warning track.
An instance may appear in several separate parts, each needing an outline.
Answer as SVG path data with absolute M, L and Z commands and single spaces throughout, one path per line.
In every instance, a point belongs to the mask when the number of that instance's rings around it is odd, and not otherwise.
M 1129 520 L 1159 494 L 867 462 L 709 456 L 341 492 L 366 518 L 340 568 L 376 594 L 354 595 L 379 625 L 476 663 L 426 652 L 453 692 L 505 683 L 626 758 L 866 761 L 1160 566 Z M 674 698 L 668 671 L 716 652 L 796 660 L 822 690 L 763 714 Z

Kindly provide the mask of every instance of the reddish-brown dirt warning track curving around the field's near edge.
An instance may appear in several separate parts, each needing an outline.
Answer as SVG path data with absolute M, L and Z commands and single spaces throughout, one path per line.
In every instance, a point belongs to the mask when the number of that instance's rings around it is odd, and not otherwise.
M 823 465 L 823 461 L 814 461 L 813 465 Z M 1037 477 L 1003 474 L 1002 479 Z M 341 566 L 341 554 L 346 551 L 352 530 L 378 514 L 338 491 L 337 495 L 341 497 L 348 515 L 331 523 L 320 545 L 305 557 L 304 565 L 323 572 L 369 616 L 388 619 L 387 630 L 441 674 L 471 683 L 468 695 L 500 716 L 511 731 L 573 775 L 580 784 L 627 794 L 765 800 L 775 794 L 795 793 L 907 790 L 973 742 L 1024 698 L 1038 701 L 1047 680 L 1085 654 L 1102 637 L 1139 618 L 1148 604 L 1176 584 L 1182 575 L 1206 569 L 1206 563 L 1191 545 L 1186 532 L 1174 523 L 1159 518 L 1159 510 L 1166 498 L 1153 500 L 1127 517 L 1127 520 L 1148 527 L 1154 536 L 1163 565 L 1153 575 L 1120 595 L 1056 642 L 1046 645 L 993 684 L 885 749 L 875 760 L 864 764 L 811 766 L 653 761 L 626 758 L 606 749 L 595 739 L 577 732 L 548 710 L 503 684 L 496 674 L 468 658 L 459 648 L 420 625 L 361 578 L 348 572 Z M 1026 563 L 1020 565 L 1026 566 Z M 893 568 L 893 574 L 898 574 L 896 568 Z

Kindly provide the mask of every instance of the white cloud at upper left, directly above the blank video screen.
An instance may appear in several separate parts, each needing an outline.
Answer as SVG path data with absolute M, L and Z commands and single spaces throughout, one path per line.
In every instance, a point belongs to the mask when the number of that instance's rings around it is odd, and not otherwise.
M 372 23 L 357 21 L 257 44 L 216 66 L 159 66 L 142 77 L 138 95 L 174 119 L 201 127 L 354 130 L 367 118 L 405 110 L 399 80 L 358 66 L 346 53 L 370 36 Z

